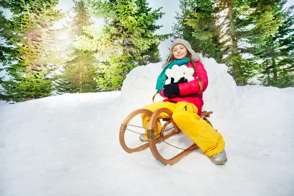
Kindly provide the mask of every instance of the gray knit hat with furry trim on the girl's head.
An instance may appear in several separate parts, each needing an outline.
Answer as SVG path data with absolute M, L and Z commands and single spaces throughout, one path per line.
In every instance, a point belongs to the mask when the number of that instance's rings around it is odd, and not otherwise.
M 170 49 L 170 53 L 168 54 L 166 60 L 165 60 L 165 63 L 162 65 L 162 68 L 164 68 L 165 66 L 167 66 L 167 64 L 169 64 L 170 61 L 172 61 L 173 59 L 173 55 L 172 55 L 172 49 L 174 46 L 176 45 L 183 45 L 186 47 L 186 49 L 190 52 L 191 54 L 191 59 L 194 61 L 194 62 L 197 62 L 197 61 L 200 61 L 202 59 L 202 55 L 201 53 L 196 53 L 191 45 L 189 44 L 189 42 L 187 42 L 186 40 L 183 40 L 183 39 L 180 39 L 180 38 L 176 38 L 173 42 L 172 42 L 172 46 L 171 46 L 171 49 Z

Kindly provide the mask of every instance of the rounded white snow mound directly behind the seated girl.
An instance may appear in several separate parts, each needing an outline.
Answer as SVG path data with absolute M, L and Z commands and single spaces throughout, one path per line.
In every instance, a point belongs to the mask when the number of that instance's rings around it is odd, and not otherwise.
M 208 87 L 203 93 L 203 110 L 214 111 L 215 117 L 221 114 L 234 114 L 237 112 L 240 99 L 236 93 L 236 82 L 227 73 L 228 68 L 224 64 L 218 64 L 214 59 L 203 58 L 201 60 L 208 75 Z M 158 75 L 161 73 L 162 63 L 152 63 L 139 66 L 127 74 L 123 81 L 121 101 L 127 111 L 139 109 L 152 103 L 152 96 L 156 93 L 155 85 Z M 154 101 L 163 100 L 160 95 Z

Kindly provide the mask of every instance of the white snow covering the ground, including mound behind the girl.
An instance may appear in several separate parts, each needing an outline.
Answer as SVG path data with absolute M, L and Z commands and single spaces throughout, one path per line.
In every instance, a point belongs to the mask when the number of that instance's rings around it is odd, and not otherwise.
M 156 92 L 161 63 L 148 64 L 127 75 L 122 92 L 1 105 L 0 196 L 293 196 L 294 88 L 237 87 L 225 65 L 202 63 L 209 77 L 203 109 L 214 112 L 209 120 L 226 142 L 225 165 L 200 149 L 172 166 L 148 148 L 123 150 L 123 120 Z M 140 117 L 133 123 L 140 126 Z M 139 135 L 125 135 L 130 147 L 142 144 Z M 191 144 L 183 133 L 168 142 Z M 157 147 L 165 158 L 179 152 Z

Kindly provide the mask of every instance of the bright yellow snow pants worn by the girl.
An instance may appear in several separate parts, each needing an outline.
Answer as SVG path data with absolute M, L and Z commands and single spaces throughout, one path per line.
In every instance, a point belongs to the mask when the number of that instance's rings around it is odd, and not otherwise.
M 159 108 L 168 108 L 172 113 L 174 123 L 205 153 L 211 157 L 214 154 L 220 153 L 225 146 L 223 138 L 209 123 L 201 119 L 197 113 L 198 109 L 193 103 L 180 101 L 172 103 L 168 101 L 159 101 L 143 108 L 154 112 Z M 147 114 L 142 114 L 142 124 L 148 127 L 150 117 Z M 166 113 L 161 113 L 158 116 L 161 118 L 170 118 Z M 154 130 L 155 135 L 159 135 L 162 125 L 157 120 L 157 128 Z M 147 133 L 147 130 L 146 130 Z M 147 139 L 147 134 L 145 135 Z

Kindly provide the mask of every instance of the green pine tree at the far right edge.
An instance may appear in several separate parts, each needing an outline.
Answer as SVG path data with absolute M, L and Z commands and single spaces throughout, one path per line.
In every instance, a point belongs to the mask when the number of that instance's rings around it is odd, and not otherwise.
M 286 0 L 253 1 L 259 6 L 254 20 L 250 48 L 259 66 L 259 80 L 265 86 L 294 86 L 294 6 L 283 9 Z

